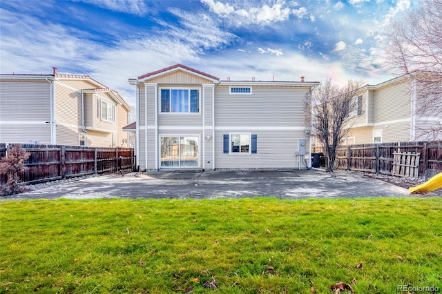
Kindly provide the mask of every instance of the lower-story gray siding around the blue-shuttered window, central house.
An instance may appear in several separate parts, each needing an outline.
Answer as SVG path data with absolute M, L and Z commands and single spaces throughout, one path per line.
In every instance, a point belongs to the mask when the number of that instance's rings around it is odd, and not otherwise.
M 305 138 L 306 146 L 309 139 L 302 130 L 244 130 L 243 133 L 256 134 L 256 154 L 225 154 L 223 153 L 223 135 L 242 133 L 241 130 L 215 130 L 215 169 L 230 168 L 298 168 L 300 157 L 298 138 Z M 307 155 L 307 162 L 309 155 Z M 301 162 L 301 167 L 305 168 Z

